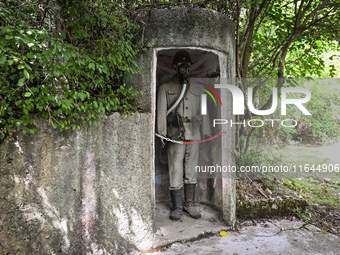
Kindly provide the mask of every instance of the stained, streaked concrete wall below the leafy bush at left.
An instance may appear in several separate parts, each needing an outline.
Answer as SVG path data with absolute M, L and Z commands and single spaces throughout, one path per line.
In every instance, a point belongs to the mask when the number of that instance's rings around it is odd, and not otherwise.
M 151 247 L 150 114 L 0 146 L 0 254 L 127 254 Z

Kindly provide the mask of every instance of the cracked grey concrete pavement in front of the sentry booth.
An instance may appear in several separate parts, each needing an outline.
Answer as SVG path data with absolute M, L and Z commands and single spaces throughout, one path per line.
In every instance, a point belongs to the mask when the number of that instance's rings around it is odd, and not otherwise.
M 340 237 L 300 221 L 274 220 L 244 226 L 240 231 L 227 231 L 229 236 L 216 235 L 194 242 L 174 243 L 153 255 L 207 254 L 339 254 Z

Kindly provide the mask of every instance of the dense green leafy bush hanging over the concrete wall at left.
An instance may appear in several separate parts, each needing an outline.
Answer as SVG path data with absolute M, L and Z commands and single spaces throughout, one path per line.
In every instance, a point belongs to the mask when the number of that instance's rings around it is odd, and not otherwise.
M 0 3 L 0 141 L 17 127 L 80 128 L 112 111 L 135 111 L 124 75 L 138 72 L 138 26 L 114 1 Z

